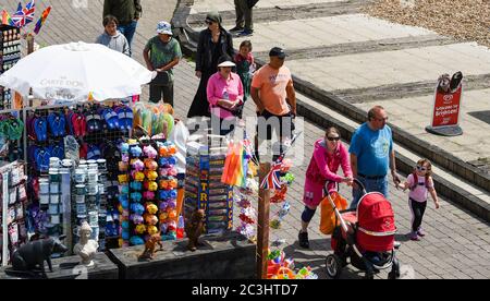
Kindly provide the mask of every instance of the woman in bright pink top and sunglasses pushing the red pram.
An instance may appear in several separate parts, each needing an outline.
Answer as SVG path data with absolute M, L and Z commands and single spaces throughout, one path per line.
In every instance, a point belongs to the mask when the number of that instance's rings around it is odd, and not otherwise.
M 336 174 L 339 167 L 345 177 Z M 335 128 L 330 128 L 326 136 L 315 143 L 315 149 L 306 170 L 305 193 L 303 202 L 305 210 L 302 215 L 302 230 L 298 234 L 299 245 L 309 248 L 308 225 L 323 198 L 323 189 L 329 182 L 328 190 L 335 189 L 335 183 L 352 185 L 352 169 L 347 147 L 340 142 L 340 133 Z

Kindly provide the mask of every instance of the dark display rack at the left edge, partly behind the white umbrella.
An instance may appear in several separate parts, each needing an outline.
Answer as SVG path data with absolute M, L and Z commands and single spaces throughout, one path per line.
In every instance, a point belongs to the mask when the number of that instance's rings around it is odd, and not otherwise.
M 0 25 L 0 74 L 21 60 L 21 29 Z M 12 92 L 0 86 L 0 110 L 12 107 Z

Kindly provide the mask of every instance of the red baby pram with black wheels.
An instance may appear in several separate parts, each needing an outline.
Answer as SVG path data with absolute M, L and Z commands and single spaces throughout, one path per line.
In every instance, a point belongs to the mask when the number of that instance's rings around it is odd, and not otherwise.
M 339 210 L 330 197 L 328 200 L 335 214 L 335 225 L 331 246 L 333 254 L 327 256 L 327 275 L 339 278 L 347 261 L 360 270 L 366 279 L 372 279 L 381 269 L 391 267 L 389 279 L 400 277 L 400 264 L 395 255 L 394 214 L 389 201 L 381 193 L 366 193 L 366 189 L 354 180 L 363 190 L 357 209 Z

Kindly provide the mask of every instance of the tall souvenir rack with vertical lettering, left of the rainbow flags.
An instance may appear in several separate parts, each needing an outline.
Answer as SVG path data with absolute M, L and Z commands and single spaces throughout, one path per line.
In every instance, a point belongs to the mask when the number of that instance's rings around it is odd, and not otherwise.
M 213 144 L 187 144 L 184 214 L 204 209 L 205 231 L 220 234 L 233 228 L 233 188 L 221 182 L 228 149 Z

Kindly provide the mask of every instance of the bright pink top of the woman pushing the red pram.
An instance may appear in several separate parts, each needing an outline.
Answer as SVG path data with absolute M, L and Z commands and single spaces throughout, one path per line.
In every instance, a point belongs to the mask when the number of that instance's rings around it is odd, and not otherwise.
M 339 143 L 336 152 L 329 154 L 324 140 L 319 140 L 315 143 L 314 155 L 306 170 L 306 179 L 322 185 L 326 181 L 341 182 L 343 178 L 336 174 L 340 166 L 345 177 L 352 177 L 347 147 Z M 329 185 L 329 190 L 331 188 L 333 185 Z

